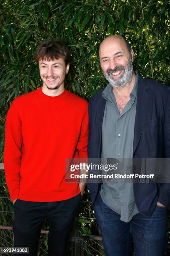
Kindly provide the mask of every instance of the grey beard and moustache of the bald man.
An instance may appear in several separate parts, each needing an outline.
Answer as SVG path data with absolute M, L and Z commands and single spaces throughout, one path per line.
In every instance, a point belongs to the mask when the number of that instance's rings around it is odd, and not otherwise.
M 114 88 L 124 87 L 126 84 L 131 82 L 132 76 L 133 76 L 133 64 L 131 59 L 129 60 L 127 67 L 126 68 L 124 67 L 123 69 L 124 69 L 124 73 L 122 74 L 121 77 L 112 78 L 110 77 L 110 72 L 107 72 L 106 74 L 104 74 L 105 78 L 112 85 L 112 87 Z M 114 71 L 118 71 L 118 70 L 120 70 L 120 68 L 118 67 L 114 69 Z

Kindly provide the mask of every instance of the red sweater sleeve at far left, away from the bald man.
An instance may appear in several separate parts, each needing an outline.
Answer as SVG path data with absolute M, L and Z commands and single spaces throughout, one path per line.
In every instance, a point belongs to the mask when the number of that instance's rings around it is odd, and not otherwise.
M 4 167 L 7 187 L 12 201 L 18 197 L 20 188 L 22 133 L 19 110 L 17 99 L 15 99 L 7 113 L 5 123 Z

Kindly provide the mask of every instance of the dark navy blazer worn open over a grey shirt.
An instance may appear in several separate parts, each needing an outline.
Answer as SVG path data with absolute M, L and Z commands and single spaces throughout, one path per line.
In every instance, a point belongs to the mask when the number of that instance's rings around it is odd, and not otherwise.
M 102 120 L 106 100 L 98 91 L 89 102 L 88 157 L 101 158 Z M 139 76 L 133 158 L 170 158 L 170 87 Z M 92 202 L 101 184 L 87 184 Z M 133 184 L 139 212 L 150 217 L 159 201 L 170 206 L 170 184 Z

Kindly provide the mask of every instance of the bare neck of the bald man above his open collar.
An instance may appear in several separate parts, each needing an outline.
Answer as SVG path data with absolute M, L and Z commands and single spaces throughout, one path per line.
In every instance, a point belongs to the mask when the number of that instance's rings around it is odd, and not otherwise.
M 125 84 L 124 87 L 120 87 L 120 88 L 113 87 L 112 88 L 114 94 L 117 95 L 118 97 L 123 96 L 123 95 L 130 95 L 130 93 L 133 90 L 134 84 L 135 84 L 135 79 L 136 79 L 136 75 L 135 75 L 135 72 L 133 72 L 132 80 L 128 84 Z

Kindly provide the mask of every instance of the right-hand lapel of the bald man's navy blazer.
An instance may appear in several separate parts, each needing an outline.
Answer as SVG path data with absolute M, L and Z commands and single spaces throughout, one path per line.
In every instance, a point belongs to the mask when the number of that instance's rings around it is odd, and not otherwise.
M 135 153 L 135 150 L 138 146 L 140 136 L 143 130 L 143 125 L 146 120 L 147 107 L 148 107 L 147 85 L 145 83 L 145 79 L 139 76 L 134 140 L 133 140 L 133 154 Z

